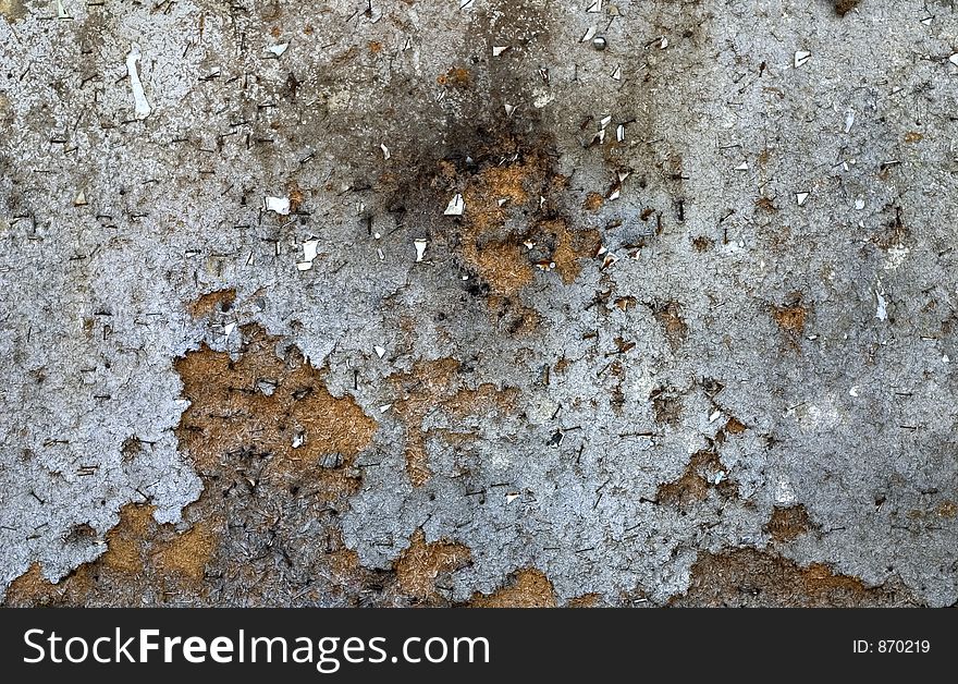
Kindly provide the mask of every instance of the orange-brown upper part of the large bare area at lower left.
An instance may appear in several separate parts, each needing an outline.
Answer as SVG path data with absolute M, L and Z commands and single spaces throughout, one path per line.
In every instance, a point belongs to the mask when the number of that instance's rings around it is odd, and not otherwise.
M 278 339 L 256 325 L 241 328 L 233 361 L 202 345 L 174 362 L 191 402 L 176 436 L 200 472 L 255 444 L 283 471 L 316 464 L 328 454 L 351 462 L 371 441 L 376 422 L 349 396 L 329 393 L 322 372 L 295 347 L 275 354 Z

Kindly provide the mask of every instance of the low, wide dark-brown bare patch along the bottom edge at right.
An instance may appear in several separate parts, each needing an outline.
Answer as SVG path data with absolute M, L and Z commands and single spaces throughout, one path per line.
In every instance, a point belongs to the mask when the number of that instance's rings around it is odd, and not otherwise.
M 756 549 L 700 553 L 688 591 L 670 601 L 696 607 L 844 607 L 914 606 L 899 585 L 868 587 L 861 579 L 836 575 L 827 565 L 801 567 Z

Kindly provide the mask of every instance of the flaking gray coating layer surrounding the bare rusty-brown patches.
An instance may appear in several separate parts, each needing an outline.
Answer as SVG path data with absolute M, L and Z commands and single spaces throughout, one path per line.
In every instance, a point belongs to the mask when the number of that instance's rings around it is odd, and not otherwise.
M 562 599 L 661 602 L 699 552 L 762 548 L 773 506 L 801 504 L 814 534 L 786 557 L 954 603 L 954 8 L 459 4 L 62 0 L 72 19 L 57 19 L 57 2 L 0 2 L 0 585 L 34 561 L 56 581 L 94 559 L 103 546 L 70 530 L 102 537 L 127 502 L 177 520 L 201 485 L 172 432 L 185 406 L 172 359 L 202 341 L 236 352 L 229 325 L 258 322 L 379 422 L 343 520 L 368 567 L 390 567 L 422 527 L 471 549 L 453 600 L 535 566 Z M 592 25 L 606 50 L 580 42 Z M 438 83 L 452 68 L 468 87 Z M 537 272 L 515 297 L 540 316 L 526 335 L 468 290 L 478 274 L 443 216 L 462 187 L 430 186 L 442 159 L 459 180 L 480 147 L 474 161 L 495 166 L 505 131 L 569 178 L 543 210 L 618 257 L 582 260 L 570 284 Z M 617 199 L 581 209 L 626 171 Z M 390 172 L 407 181 L 406 212 L 382 190 Z M 262 209 L 293 183 L 299 215 Z M 314 239 L 320 256 L 297 270 Z M 188 303 L 223 288 L 236 307 L 194 321 Z M 803 327 L 783 329 L 776 307 L 799 295 Z M 655 316 L 670 302 L 677 341 Z M 610 355 L 616 338 L 635 346 Z M 465 387 L 516 388 L 516 407 L 427 416 L 433 475 L 414 487 L 406 426 L 380 407 L 397 399 L 390 376 L 446 357 L 471 369 Z M 655 418 L 660 388 L 680 401 L 673 424 Z M 718 447 L 737 496 L 656 503 L 732 417 L 748 427 Z M 127 463 L 134 436 L 150 447 Z

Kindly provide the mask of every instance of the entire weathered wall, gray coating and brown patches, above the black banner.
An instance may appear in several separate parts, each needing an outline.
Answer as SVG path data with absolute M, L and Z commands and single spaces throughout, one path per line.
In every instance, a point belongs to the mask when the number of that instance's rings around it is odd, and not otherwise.
M 0 0 L 5 602 L 955 603 L 956 35 Z

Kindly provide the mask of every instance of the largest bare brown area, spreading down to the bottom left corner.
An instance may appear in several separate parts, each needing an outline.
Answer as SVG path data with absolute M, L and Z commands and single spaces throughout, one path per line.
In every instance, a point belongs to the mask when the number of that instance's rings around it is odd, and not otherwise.
M 235 359 L 207 347 L 174 359 L 192 404 L 176 435 L 204 484 L 183 511 L 183 532 L 157 524 L 149 503 L 127 504 L 103 555 L 58 584 L 30 569 L 7 604 L 408 602 L 392 573 L 363 567 L 342 539 L 339 512 L 360 476 L 351 463 L 376 423 L 352 399 L 332 396 L 295 347 L 280 357 L 261 328 L 241 331 Z M 122 451 L 142 457 L 143 444 L 131 438 Z M 307 525 L 319 534 L 304 546 Z M 87 527 L 78 526 L 77 543 L 95 542 Z M 278 573 L 280 564 L 288 572 Z

